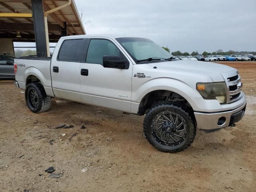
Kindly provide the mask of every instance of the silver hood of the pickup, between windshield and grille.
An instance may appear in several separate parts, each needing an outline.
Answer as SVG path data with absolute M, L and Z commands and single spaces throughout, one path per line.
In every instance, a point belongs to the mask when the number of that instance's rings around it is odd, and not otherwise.
M 174 70 L 184 71 L 200 75 L 208 75 L 212 78 L 213 82 L 222 82 L 224 81 L 222 73 L 236 71 L 235 68 L 232 68 L 227 65 L 212 63 L 212 62 L 203 62 L 203 61 L 193 61 L 193 60 L 175 60 L 169 62 L 158 62 L 150 63 L 150 66 L 156 66 L 162 70 Z

